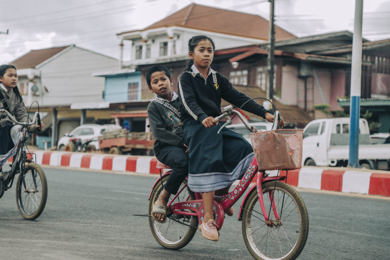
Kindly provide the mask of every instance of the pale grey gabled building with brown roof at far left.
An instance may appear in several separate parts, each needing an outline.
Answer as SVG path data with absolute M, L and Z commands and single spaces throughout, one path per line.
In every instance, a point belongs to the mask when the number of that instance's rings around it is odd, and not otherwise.
M 111 120 L 110 112 L 94 110 L 109 104 L 103 99 L 104 79 L 92 73 L 117 68 L 117 59 L 68 45 L 31 50 L 10 63 L 18 69 L 26 107 L 35 112 L 39 104 L 45 128 L 53 129 L 54 134 L 47 132 L 53 144 L 80 123 Z

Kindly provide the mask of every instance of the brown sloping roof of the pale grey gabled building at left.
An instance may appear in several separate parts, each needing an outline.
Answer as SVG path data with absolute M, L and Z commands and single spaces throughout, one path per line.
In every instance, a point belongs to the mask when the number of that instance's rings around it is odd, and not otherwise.
M 37 65 L 42 63 L 45 60 L 50 59 L 54 55 L 68 48 L 69 46 L 63 47 L 54 47 L 41 50 L 31 50 L 29 53 L 23 55 L 22 57 L 12 61 L 11 63 L 15 65 L 18 69 L 27 69 L 35 68 Z

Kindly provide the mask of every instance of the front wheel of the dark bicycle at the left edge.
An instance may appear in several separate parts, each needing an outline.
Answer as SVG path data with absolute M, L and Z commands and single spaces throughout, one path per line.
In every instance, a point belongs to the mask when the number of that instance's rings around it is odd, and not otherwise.
M 26 188 L 23 180 L 26 183 Z M 26 220 L 35 220 L 43 212 L 46 200 L 47 180 L 45 173 L 36 163 L 26 164 L 24 174 L 19 174 L 16 186 L 16 204 L 20 215 Z

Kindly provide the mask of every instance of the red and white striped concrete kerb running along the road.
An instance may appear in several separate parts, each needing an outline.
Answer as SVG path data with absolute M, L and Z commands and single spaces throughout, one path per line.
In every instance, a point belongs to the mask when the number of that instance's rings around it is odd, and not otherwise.
M 93 170 L 112 170 L 158 174 L 157 159 L 150 156 L 124 156 L 50 152 L 38 150 L 36 163 L 51 166 L 68 166 Z M 12 158 L 10 159 L 12 161 Z M 277 171 L 270 171 L 276 175 Z M 280 171 L 285 176 L 285 171 Z M 321 168 L 305 166 L 288 172 L 287 183 L 299 188 L 361 193 L 390 197 L 390 172 L 364 171 L 346 168 Z

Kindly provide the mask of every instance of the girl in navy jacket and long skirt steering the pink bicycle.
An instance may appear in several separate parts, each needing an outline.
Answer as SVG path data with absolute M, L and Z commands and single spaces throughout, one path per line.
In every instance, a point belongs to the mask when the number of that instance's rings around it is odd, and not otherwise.
M 179 76 L 177 87 L 183 103 L 184 141 L 189 145 L 188 186 L 192 191 L 202 193 L 204 219 L 199 225 L 202 236 L 218 241 L 213 215 L 214 196 L 226 194 L 231 184 L 242 178 L 254 152 L 248 141 L 228 128 L 217 134 L 219 127 L 214 118 L 221 114 L 221 99 L 241 107 L 250 98 L 210 67 L 215 51 L 211 38 L 192 37 L 188 51 L 188 68 Z M 273 122 L 273 115 L 254 100 L 248 101 L 243 109 Z M 279 125 L 284 126 L 283 118 Z M 232 216 L 233 207 L 225 213 Z

